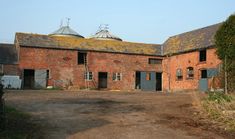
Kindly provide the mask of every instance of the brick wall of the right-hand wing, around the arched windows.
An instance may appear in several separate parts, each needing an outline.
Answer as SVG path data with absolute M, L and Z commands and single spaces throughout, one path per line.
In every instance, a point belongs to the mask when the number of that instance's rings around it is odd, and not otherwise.
M 166 57 L 163 60 L 163 88 L 164 90 L 181 91 L 196 90 L 199 87 L 201 78 L 201 69 L 218 68 L 221 61 L 215 54 L 215 49 L 207 49 L 207 60 L 199 62 L 199 51 L 189 52 L 180 55 Z M 194 68 L 194 78 L 187 79 L 187 67 Z M 183 80 L 177 80 L 176 70 L 181 68 L 183 71 Z M 170 82 L 169 82 L 170 79 Z M 209 88 L 212 79 L 209 79 Z M 217 85 L 219 86 L 219 85 Z

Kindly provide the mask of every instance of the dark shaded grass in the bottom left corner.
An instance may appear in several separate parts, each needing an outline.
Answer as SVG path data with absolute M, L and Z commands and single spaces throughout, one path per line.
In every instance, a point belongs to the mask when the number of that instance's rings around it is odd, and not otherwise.
M 5 112 L 6 126 L 5 129 L 0 129 L 1 139 L 40 138 L 36 135 L 40 128 L 38 125 L 32 123 L 29 114 L 8 106 L 5 108 Z

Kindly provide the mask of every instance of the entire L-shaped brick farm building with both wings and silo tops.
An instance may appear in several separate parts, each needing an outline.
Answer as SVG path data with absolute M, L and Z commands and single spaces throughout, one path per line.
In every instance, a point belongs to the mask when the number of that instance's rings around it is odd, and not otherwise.
M 90 38 L 69 26 L 49 35 L 16 33 L 14 70 L 23 89 L 216 89 L 221 61 L 214 35 L 219 26 L 172 36 L 163 44 L 125 42 L 105 28 Z

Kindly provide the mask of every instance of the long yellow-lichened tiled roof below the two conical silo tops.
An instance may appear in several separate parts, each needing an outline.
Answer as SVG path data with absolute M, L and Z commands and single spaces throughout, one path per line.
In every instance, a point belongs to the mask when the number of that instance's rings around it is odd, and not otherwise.
M 161 46 L 157 44 L 84 39 L 64 36 L 48 36 L 27 33 L 16 33 L 16 39 L 21 46 L 28 47 L 161 55 Z

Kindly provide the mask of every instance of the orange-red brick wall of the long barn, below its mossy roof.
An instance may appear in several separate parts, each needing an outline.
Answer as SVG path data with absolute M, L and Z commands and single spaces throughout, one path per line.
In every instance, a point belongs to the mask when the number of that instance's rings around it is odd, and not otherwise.
M 131 90 L 135 87 L 136 71 L 162 72 L 161 65 L 148 64 L 149 58 L 143 55 L 88 52 L 88 69 L 93 72 L 94 81 L 88 81 L 91 87 L 98 86 L 98 72 L 108 72 L 108 89 Z M 73 86 L 84 87 L 84 65 L 77 64 L 77 51 L 21 47 L 19 67 L 23 69 L 48 69 L 49 85 L 56 80 L 71 82 Z M 122 73 L 121 81 L 113 81 L 114 72 Z

